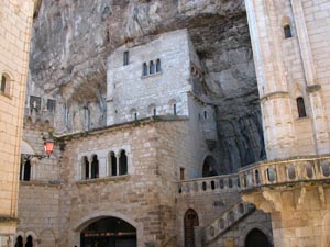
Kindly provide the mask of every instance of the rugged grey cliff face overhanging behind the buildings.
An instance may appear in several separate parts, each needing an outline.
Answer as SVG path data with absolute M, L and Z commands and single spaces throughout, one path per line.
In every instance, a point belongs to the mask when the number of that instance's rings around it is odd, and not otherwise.
M 29 91 L 56 99 L 58 133 L 84 130 L 86 115 L 88 127 L 103 126 L 111 50 L 184 27 L 217 105 L 219 170 L 265 158 L 243 0 L 44 0 L 34 22 Z

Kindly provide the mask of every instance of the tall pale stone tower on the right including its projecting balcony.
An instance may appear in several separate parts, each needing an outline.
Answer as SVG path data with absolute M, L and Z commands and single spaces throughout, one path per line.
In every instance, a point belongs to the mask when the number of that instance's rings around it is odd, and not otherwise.
M 241 169 L 274 244 L 329 246 L 329 31 L 321 1 L 246 0 L 268 161 Z

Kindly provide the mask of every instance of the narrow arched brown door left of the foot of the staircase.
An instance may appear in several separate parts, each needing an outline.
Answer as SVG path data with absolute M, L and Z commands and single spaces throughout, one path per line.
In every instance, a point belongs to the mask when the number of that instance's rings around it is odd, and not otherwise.
M 185 214 L 185 247 L 195 247 L 194 227 L 199 225 L 198 214 L 195 210 L 187 210 Z

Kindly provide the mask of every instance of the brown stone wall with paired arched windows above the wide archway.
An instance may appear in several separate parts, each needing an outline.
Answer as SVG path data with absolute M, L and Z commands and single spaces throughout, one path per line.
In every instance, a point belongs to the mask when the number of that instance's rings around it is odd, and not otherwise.
M 178 176 L 178 164 L 190 166 L 188 156 L 184 155 L 190 150 L 183 145 L 178 153 L 176 142 L 183 143 L 186 133 L 186 121 L 141 122 L 141 125 L 128 124 L 67 141 L 61 172 L 64 181 L 61 246 L 78 245 L 86 223 L 99 216 L 117 216 L 132 224 L 138 231 L 139 246 L 145 243 L 160 246 L 173 236 L 173 181 Z M 81 155 L 98 154 L 101 160 L 116 148 L 127 150 L 128 175 L 91 180 L 76 176 Z M 106 164 L 100 162 L 100 170 Z

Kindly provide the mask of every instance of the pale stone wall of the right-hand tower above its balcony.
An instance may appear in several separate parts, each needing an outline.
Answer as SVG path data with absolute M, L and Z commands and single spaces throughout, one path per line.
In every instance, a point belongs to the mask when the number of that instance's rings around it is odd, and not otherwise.
M 246 0 L 268 159 L 329 149 L 329 4 Z M 285 38 L 289 24 L 292 37 Z M 296 99 L 302 97 L 306 117 Z

